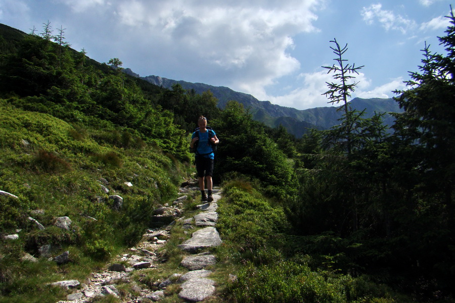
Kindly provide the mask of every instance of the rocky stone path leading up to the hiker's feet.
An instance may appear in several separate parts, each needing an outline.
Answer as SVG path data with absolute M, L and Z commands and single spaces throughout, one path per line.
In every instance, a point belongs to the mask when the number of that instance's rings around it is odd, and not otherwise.
M 191 194 L 196 192 L 199 194 L 199 189 L 180 188 L 180 192 Z M 165 205 L 163 208 L 156 210 L 155 221 L 160 221 L 164 217 L 169 217 L 173 214 L 174 221 L 164 228 L 149 229 L 143 236 L 143 240 L 135 247 L 131 247 L 124 254 L 117 256 L 113 263 L 110 264 L 105 270 L 92 273 L 86 281 L 80 283 L 77 280 L 58 281 L 55 285 L 59 285 L 66 289 L 74 289 L 74 292 L 67 296 L 66 300 L 59 301 L 58 303 L 88 303 L 92 302 L 97 297 L 102 297 L 111 294 L 120 297 L 117 290 L 118 284 L 130 283 L 131 289 L 137 296 L 121 297 L 122 302 L 141 303 L 150 301 L 159 301 L 165 297 L 164 290 L 172 283 L 181 283 L 178 297 L 182 301 L 198 302 L 202 301 L 215 293 L 215 281 L 210 279 L 208 266 L 216 264 L 216 257 L 209 254 L 207 250 L 211 247 L 216 247 L 221 244 L 221 238 L 215 228 L 218 220 L 216 209 L 218 207 L 217 201 L 220 196 L 220 190 L 214 189 L 213 198 L 211 203 L 205 203 L 197 206 L 200 213 L 193 218 L 176 218 L 175 216 L 181 215 L 181 204 L 187 197 L 182 196 L 174 201 L 172 206 Z M 160 255 L 158 251 L 162 248 L 166 240 L 169 239 L 172 232 L 172 226 L 176 222 L 183 223 L 183 228 L 188 232 L 196 228 L 197 231 L 193 232 L 192 237 L 182 242 L 177 247 L 182 251 L 192 254 L 186 257 L 181 266 L 188 269 L 184 275 L 173 274 L 171 277 L 164 281 L 157 281 L 153 284 L 154 288 L 158 290 L 152 291 L 151 289 L 143 289 L 134 281 L 131 281 L 131 274 L 138 273 L 138 271 L 149 270 L 150 268 L 159 267 L 163 262 L 166 262 L 165 254 Z M 152 220 L 153 222 L 153 220 Z

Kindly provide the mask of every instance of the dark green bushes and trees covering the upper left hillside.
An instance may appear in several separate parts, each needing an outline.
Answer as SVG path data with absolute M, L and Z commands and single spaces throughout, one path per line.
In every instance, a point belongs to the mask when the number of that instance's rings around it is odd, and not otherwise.
M 66 121 L 90 119 L 95 124 L 98 119 L 100 125 L 101 119 L 117 128 L 127 127 L 130 133 L 135 129 L 137 140 L 123 133 L 121 144 L 117 145 L 129 147 L 141 145 L 142 141 L 154 142 L 178 159 L 188 160 L 185 132 L 172 124 L 172 113 L 152 106 L 158 98 L 161 103 L 167 103 L 166 95 L 146 99 L 136 84 L 139 80 L 119 69 L 87 61 L 83 52 L 76 53 L 69 48 L 63 33 L 57 37 L 58 43 L 53 43 L 45 38 L 50 35 L 49 31 L 46 24 L 42 37 L 28 35 L 17 43 L 17 52 L 0 58 L 0 94 L 18 95 L 20 98 L 10 99 L 14 105 Z M 120 65 L 117 61 L 112 63 Z M 216 104 L 213 107 L 216 108 Z M 181 107 L 180 110 L 185 113 L 189 109 Z

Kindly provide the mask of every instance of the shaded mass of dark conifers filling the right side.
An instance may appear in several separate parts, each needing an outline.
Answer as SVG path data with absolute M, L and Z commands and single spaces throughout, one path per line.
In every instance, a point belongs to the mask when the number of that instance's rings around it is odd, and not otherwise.
M 286 204 L 289 249 L 314 256 L 312 267 L 370 274 L 417 301 L 452 301 L 455 281 L 449 19 L 447 55 L 425 47 L 422 73 L 398 92 L 394 132 L 382 115 L 348 108 L 339 126 L 309 133 L 297 149 L 300 194 Z

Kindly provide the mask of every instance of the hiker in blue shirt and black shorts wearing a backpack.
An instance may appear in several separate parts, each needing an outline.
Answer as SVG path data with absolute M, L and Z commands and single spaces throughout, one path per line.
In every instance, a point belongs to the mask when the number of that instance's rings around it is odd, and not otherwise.
M 198 126 L 193 135 L 190 143 L 190 148 L 195 148 L 196 158 L 196 171 L 198 173 L 199 188 L 201 189 L 202 201 L 213 201 L 212 197 L 212 175 L 213 175 L 213 153 L 212 145 L 218 144 L 219 140 L 212 129 L 207 128 L 207 118 L 204 116 L 199 117 Z M 205 194 L 204 177 L 207 183 L 207 195 Z

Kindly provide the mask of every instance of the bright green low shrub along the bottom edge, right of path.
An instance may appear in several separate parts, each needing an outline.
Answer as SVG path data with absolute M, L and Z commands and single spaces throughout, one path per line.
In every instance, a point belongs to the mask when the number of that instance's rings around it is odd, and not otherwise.
M 248 264 L 230 285 L 237 301 L 268 303 L 396 303 L 390 288 L 364 277 L 312 271 L 290 261 L 255 267 Z M 411 301 L 401 297 L 400 302 Z

